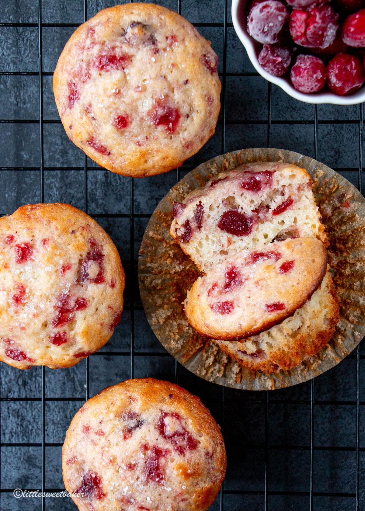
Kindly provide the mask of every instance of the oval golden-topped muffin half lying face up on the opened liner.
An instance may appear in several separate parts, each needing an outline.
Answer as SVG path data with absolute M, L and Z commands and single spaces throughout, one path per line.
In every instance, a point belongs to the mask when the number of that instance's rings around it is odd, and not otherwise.
M 327 250 L 316 238 L 276 241 L 242 250 L 199 277 L 185 313 L 200 334 L 238 340 L 291 316 L 321 284 Z

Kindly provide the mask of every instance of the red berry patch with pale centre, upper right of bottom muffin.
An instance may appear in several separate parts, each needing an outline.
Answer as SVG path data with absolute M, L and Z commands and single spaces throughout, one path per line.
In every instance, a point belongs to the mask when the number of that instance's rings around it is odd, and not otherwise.
M 178 413 L 163 413 L 156 425 L 158 433 L 171 442 L 175 451 L 184 455 L 186 450 L 197 448 L 196 439 L 182 425 L 181 416 Z

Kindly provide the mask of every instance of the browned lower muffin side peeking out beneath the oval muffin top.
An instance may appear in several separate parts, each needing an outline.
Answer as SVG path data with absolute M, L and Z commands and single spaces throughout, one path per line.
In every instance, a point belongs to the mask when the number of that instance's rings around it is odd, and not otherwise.
M 339 318 L 329 271 L 311 298 L 280 324 L 241 341 L 215 340 L 241 366 L 259 373 L 279 373 L 315 355 L 331 339 Z

